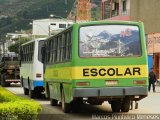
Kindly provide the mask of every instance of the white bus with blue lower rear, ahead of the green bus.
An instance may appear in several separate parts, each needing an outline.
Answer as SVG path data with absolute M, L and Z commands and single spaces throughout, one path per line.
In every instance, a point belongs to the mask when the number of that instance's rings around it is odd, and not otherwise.
M 21 45 L 21 84 L 24 94 L 29 94 L 31 98 L 38 97 L 44 91 L 44 71 L 41 62 L 44 41 L 45 38 L 39 38 Z

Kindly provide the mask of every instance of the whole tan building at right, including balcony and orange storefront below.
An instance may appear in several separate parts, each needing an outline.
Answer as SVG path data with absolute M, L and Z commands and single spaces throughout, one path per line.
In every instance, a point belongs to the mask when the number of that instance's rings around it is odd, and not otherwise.
M 148 54 L 160 79 L 160 0 L 105 0 L 104 19 L 142 21 L 145 26 Z M 152 61 L 152 60 L 150 60 Z M 151 63 L 152 64 L 152 63 Z M 150 66 L 150 65 L 149 65 Z

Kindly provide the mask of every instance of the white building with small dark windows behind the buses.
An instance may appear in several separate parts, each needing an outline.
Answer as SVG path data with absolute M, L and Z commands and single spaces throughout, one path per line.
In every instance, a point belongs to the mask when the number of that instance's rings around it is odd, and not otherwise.
M 71 24 L 73 24 L 73 21 L 66 19 L 50 18 L 33 20 L 32 35 L 50 36 L 60 30 L 67 28 Z

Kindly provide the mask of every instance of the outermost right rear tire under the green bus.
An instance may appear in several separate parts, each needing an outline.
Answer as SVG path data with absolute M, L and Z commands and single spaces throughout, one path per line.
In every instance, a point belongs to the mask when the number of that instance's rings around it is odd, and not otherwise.
M 130 108 L 130 98 L 126 97 L 123 99 L 122 101 L 122 105 L 121 105 L 121 111 L 122 112 L 128 112 L 129 108 Z

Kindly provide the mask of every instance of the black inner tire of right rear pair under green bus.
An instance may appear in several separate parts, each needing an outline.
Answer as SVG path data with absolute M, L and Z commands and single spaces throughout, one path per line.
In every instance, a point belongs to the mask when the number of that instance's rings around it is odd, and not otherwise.
M 112 108 L 112 112 L 120 112 L 121 101 L 120 100 L 111 101 L 111 108 Z

